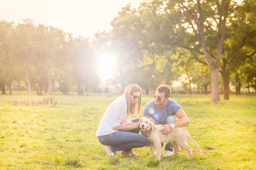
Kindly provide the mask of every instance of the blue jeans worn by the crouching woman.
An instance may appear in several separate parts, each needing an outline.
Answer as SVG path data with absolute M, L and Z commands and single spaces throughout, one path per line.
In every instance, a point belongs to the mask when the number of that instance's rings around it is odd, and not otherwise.
M 132 119 L 132 122 L 138 122 L 140 118 Z M 111 145 L 112 151 L 128 151 L 132 148 L 144 147 L 148 144 L 148 138 L 139 134 L 140 127 L 131 130 L 119 130 L 108 135 L 99 136 L 98 139 L 103 145 Z

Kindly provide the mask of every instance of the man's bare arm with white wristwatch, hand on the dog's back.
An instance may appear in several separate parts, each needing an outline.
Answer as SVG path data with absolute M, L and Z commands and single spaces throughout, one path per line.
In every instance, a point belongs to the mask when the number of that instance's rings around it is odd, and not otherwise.
M 178 112 L 176 113 L 176 116 L 179 118 L 179 120 L 173 123 L 175 128 L 183 127 L 189 124 L 188 116 L 186 115 L 184 110 L 182 110 L 182 108 L 178 110 Z M 170 124 L 163 125 L 163 128 L 161 129 L 161 131 L 162 133 L 167 135 L 172 131 L 171 125 Z

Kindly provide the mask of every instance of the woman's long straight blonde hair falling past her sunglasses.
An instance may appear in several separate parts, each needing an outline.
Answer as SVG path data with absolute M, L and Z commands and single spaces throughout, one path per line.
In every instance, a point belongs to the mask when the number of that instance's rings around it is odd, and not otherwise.
M 142 95 L 142 90 L 141 90 L 140 86 L 137 84 L 128 85 L 124 89 L 124 95 L 125 95 L 126 103 L 127 103 L 127 114 L 140 116 L 141 98 L 138 99 L 134 104 L 132 104 L 130 96 L 133 92 L 140 92 L 140 96 Z

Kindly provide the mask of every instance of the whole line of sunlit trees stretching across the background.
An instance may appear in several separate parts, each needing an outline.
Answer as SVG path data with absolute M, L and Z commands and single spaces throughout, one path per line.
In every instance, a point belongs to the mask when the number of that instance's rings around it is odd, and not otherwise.
M 24 84 L 38 95 L 58 88 L 97 92 L 98 62 L 115 63 L 114 85 L 139 84 L 146 93 L 160 84 L 183 83 L 219 101 L 228 100 L 230 84 L 256 89 L 256 3 L 243 1 L 162 1 L 130 4 L 113 19 L 112 30 L 74 38 L 52 26 L 35 26 L 30 19 L 18 25 L 0 23 L 0 84 Z M 109 54 L 111 57 L 109 57 Z M 113 61 L 112 61 L 113 60 Z M 108 64 L 108 63 L 106 63 Z

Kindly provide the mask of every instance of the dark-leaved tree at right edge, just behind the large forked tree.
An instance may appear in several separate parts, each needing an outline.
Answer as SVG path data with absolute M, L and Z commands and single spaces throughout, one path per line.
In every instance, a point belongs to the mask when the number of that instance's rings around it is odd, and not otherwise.
M 227 27 L 226 38 L 222 52 L 220 74 L 223 80 L 224 100 L 229 99 L 229 77 L 230 73 L 237 72 L 241 63 L 252 57 L 256 50 L 255 31 L 255 3 L 244 1 L 234 8 L 230 15 L 230 24 Z M 236 76 L 237 92 L 240 85 Z

